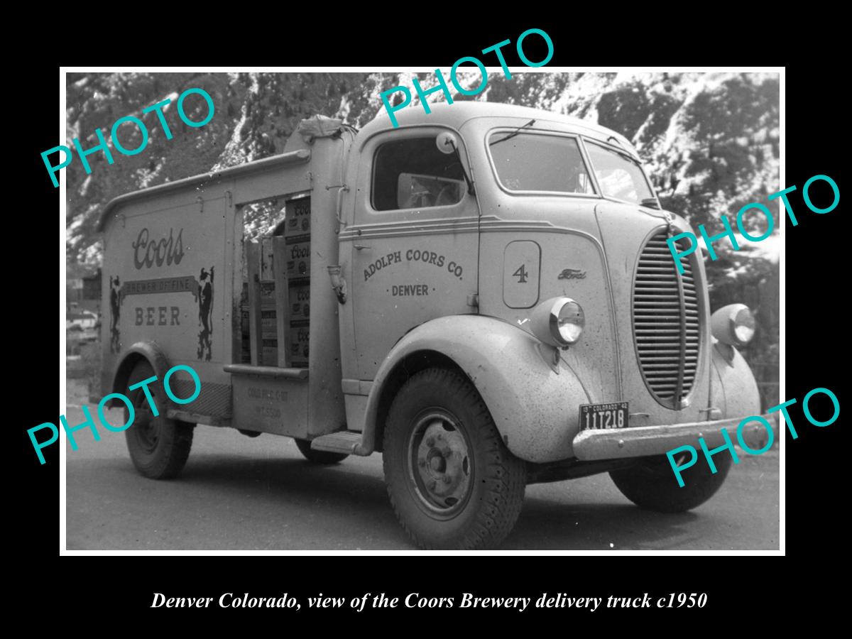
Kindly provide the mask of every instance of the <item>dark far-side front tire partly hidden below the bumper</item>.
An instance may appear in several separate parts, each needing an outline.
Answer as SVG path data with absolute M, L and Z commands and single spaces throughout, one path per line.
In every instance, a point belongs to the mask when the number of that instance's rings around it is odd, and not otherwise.
M 630 468 L 612 470 L 609 476 L 619 491 L 640 508 L 682 513 L 704 504 L 722 486 L 731 468 L 731 457 L 719 454 L 713 463 L 717 468 L 715 474 L 700 459 L 682 471 L 682 487 L 665 455 L 645 458 Z

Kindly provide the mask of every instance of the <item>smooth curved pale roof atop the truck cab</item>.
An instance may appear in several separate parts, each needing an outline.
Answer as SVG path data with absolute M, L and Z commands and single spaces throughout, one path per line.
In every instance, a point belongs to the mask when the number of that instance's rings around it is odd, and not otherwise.
M 519 118 L 525 121 L 519 122 L 518 126 L 535 119 L 536 124 L 544 122 L 559 124 L 560 128 L 566 128 L 574 133 L 588 135 L 604 142 L 615 138 L 618 141 L 617 146 L 623 147 L 625 151 L 638 157 L 636 149 L 624 135 L 589 120 L 581 120 L 580 118 L 544 109 L 521 107 L 500 102 L 467 100 L 456 101 L 452 104 L 447 104 L 446 102 L 429 103 L 429 110 L 431 111 L 430 113 L 425 112 L 420 103 L 402 108 L 394 112 L 394 116 L 399 124 L 399 127 L 394 127 L 390 121 L 387 109 L 382 107 L 377 113 L 376 118 L 373 118 L 369 124 L 366 124 L 360 130 L 358 136 L 366 140 L 371 135 L 375 135 L 383 130 L 392 130 L 405 126 L 422 126 L 424 124 L 443 124 L 451 126 L 454 129 L 460 129 L 464 123 L 475 118 Z M 536 128 L 533 125 L 532 129 L 535 130 Z

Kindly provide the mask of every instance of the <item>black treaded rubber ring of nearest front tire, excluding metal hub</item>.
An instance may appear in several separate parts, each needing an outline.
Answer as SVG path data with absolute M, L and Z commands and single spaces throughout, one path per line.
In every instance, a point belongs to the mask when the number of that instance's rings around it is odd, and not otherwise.
M 420 505 L 406 474 L 408 437 L 415 417 L 438 407 L 452 413 L 469 440 L 474 475 L 467 504 L 449 520 L 440 520 Z M 526 465 L 504 446 L 491 413 L 467 377 L 443 368 L 413 375 L 390 406 L 383 439 L 383 466 L 390 503 L 418 547 L 424 550 L 484 550 L 509 534 L 521 514 Z M 480 474 L 480 476 L 475 476 Z

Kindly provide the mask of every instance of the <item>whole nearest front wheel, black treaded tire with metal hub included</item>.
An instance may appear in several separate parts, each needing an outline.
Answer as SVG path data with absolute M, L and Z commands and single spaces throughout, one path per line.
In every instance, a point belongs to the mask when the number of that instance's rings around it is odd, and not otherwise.
M 411 377 L 390 407 L 383 444 L 391 504 L 421 548 L 493 548 L 515 525 L 525 465 L 462 375 L 429 368 Z

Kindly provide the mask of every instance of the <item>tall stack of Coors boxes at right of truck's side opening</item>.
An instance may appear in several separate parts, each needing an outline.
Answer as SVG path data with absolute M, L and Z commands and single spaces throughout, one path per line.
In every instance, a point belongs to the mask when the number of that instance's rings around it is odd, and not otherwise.
M 311 292 L 310 198 L 287 202 L 284 237 L 290 304 L 290 362 L 296 368 L 307 368 Z

